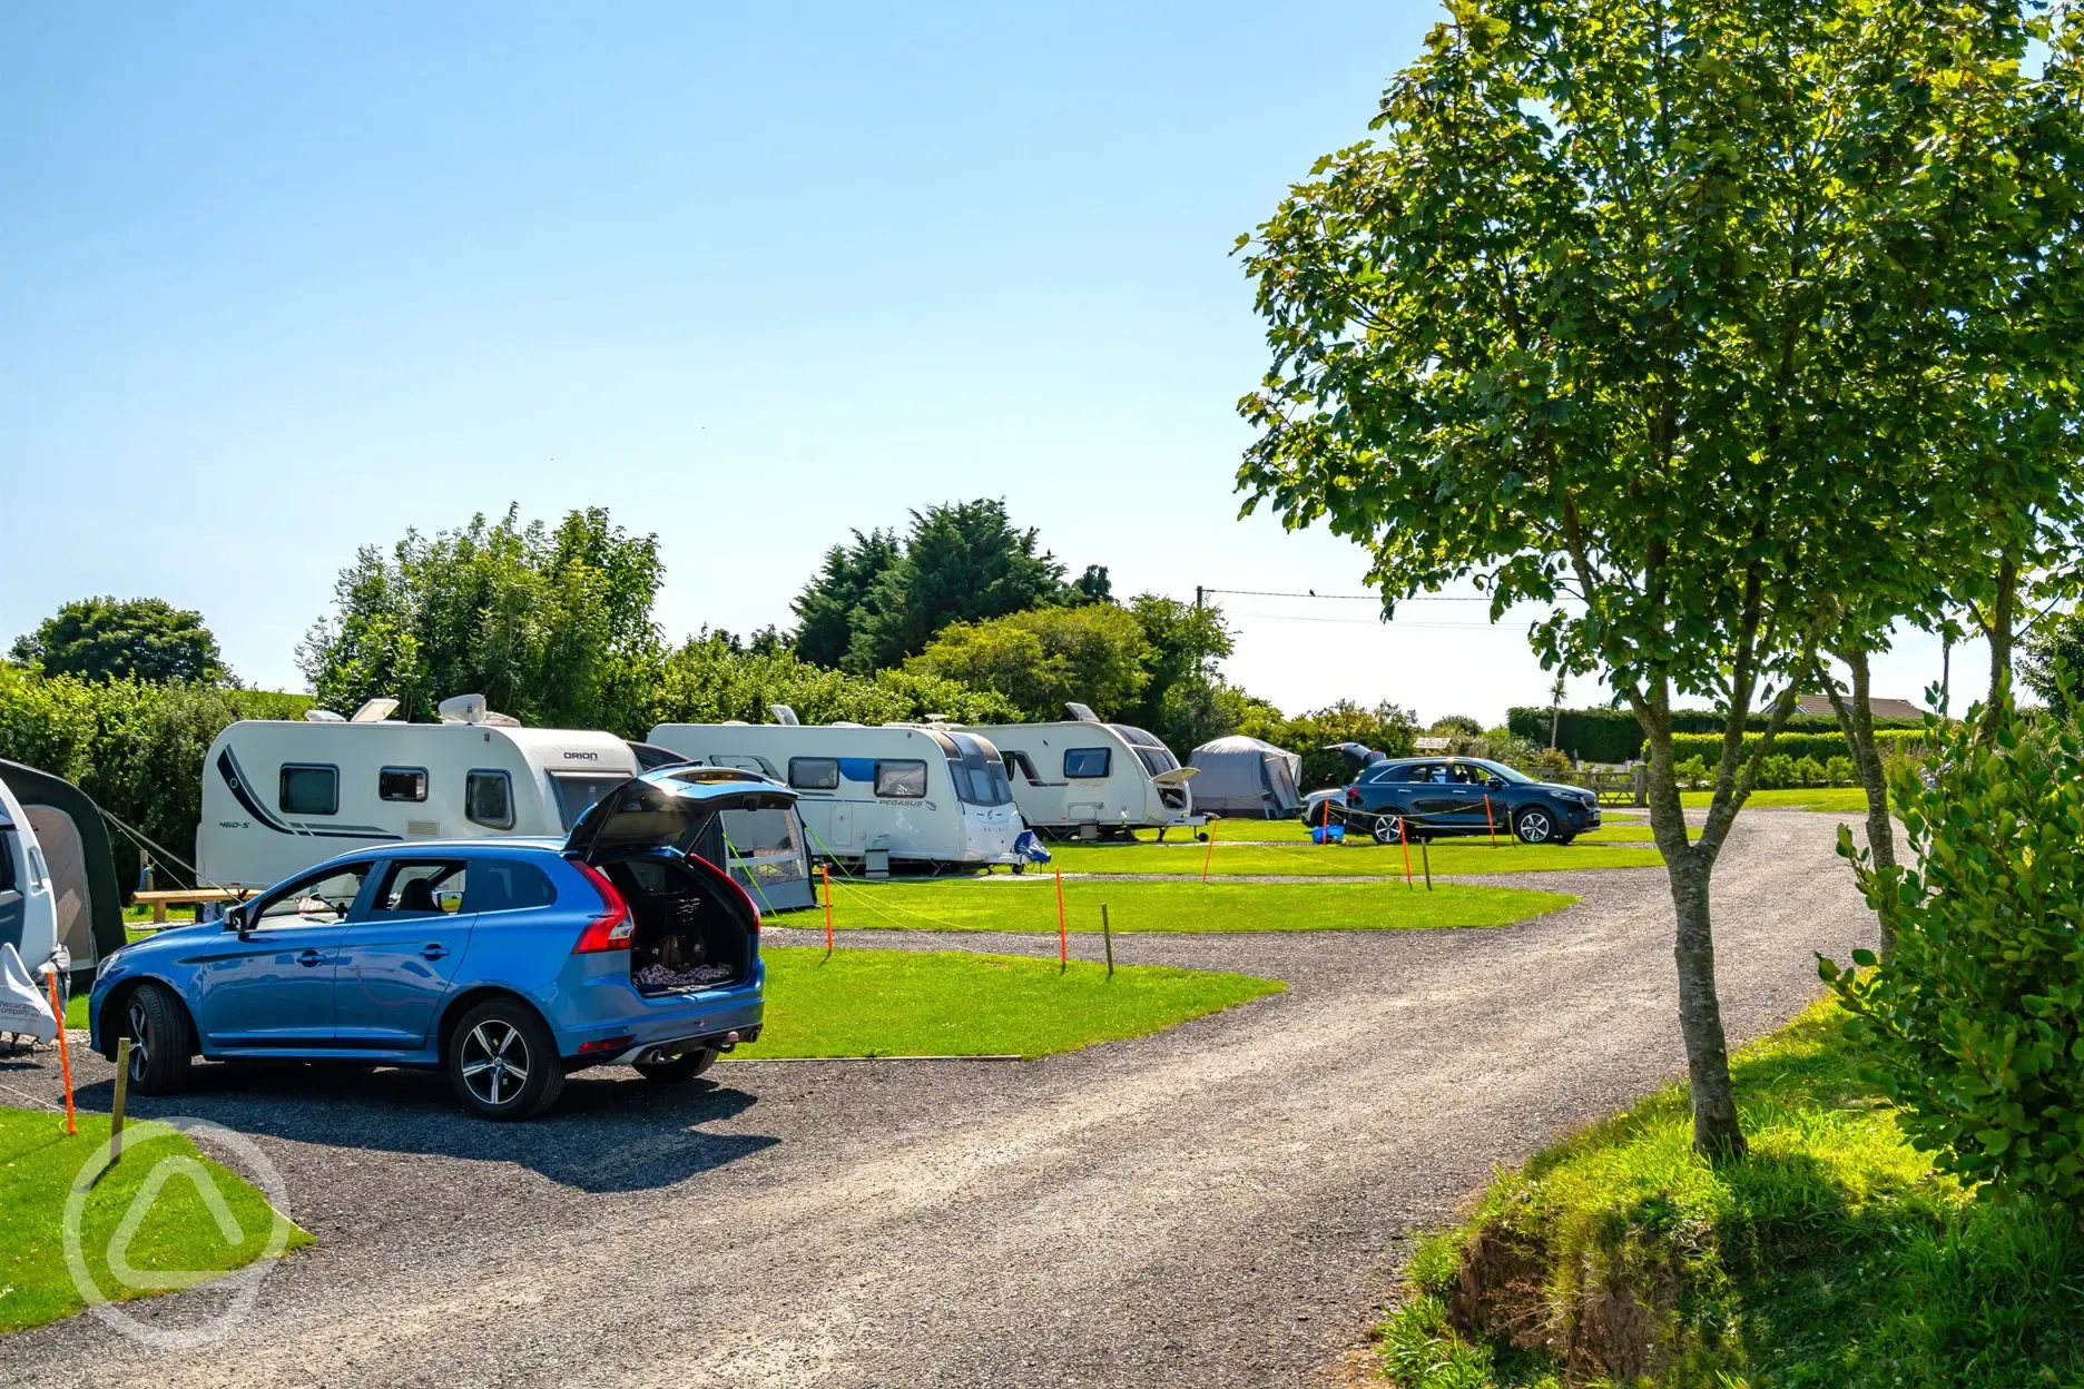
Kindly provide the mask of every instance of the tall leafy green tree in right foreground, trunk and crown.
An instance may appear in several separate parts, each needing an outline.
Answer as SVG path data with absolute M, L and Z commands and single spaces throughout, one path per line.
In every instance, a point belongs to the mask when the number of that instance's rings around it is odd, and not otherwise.
M 1365 544 L 1386 608 L 1467 579 L 1492 616 L 1553 604 L 1544 664 L 1601 671 L 1642 725 L 1707 1154 L 1744 1152 L 1711 873 L 1842 596 L 1817 537 L 1846 479 L 1957 408 L 1888 369 L 1924 304 L 1974 296 L 1919 229 L 2005 233 L 2001 202 L 1928 185 L 2005 144 L 1957 127 L 2021 46 L 2007 12 L 1919 0 L 1455 0 L 1378 140 L 1319 160 L 1248 258 L 1273 348 L 1248 508 Z M 1698 839 L 1684 696 L 1726 712 Z

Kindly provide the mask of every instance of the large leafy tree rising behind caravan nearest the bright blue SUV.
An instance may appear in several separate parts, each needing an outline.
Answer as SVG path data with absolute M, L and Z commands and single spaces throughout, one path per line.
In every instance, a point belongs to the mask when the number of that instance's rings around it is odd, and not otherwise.
M 340 573 L 336 612 L 313 625 L 298 664 L 327 708 L 394 696 L 429 721 L 456 693 L 523 723 L 642 733 L 661 658 L 652 598 L 659 544 L 602 508 L 552 531 L 519 506 L 431 539 L 406 531 L 390 556 L 367 546 Z

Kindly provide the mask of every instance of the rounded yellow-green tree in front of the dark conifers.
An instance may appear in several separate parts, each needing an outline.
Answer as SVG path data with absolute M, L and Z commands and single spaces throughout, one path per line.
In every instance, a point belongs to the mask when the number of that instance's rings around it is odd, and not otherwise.
M 1063 718 L 1071 700 L 1119 718 L 1150 679 L 1148 654 L 1136 614 L 1096 602 L 948 623 L 904 668 L 996 691 L 1038 723 Z

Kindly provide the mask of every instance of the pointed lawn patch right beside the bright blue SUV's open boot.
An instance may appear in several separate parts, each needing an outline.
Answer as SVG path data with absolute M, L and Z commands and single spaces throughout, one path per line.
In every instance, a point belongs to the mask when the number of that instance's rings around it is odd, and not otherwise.
M 736 1056 L 1048 1056 L 1144 1037 L 1280 993 L 1277 979 L 944 950 L 782 945 L 767 960 L 767 1027 Z

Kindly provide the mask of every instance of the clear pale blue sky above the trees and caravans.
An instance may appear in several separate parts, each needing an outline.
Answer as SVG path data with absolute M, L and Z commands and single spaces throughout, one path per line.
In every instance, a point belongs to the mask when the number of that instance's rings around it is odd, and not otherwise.
M 1121 594 L 1359 591 L 1236 521 L 1230 250 L 1436 15 L 6 6 L 0 643 L 152 594 L 300 687 L 356 546 L 506 502 L 656 531 L 673 637 L 786 625 L 848 527 L 969 496 Z M 1521 627 L 1430 625 L 1473 604 L 1225 604 L 1288 708 L 1546 689 Z

